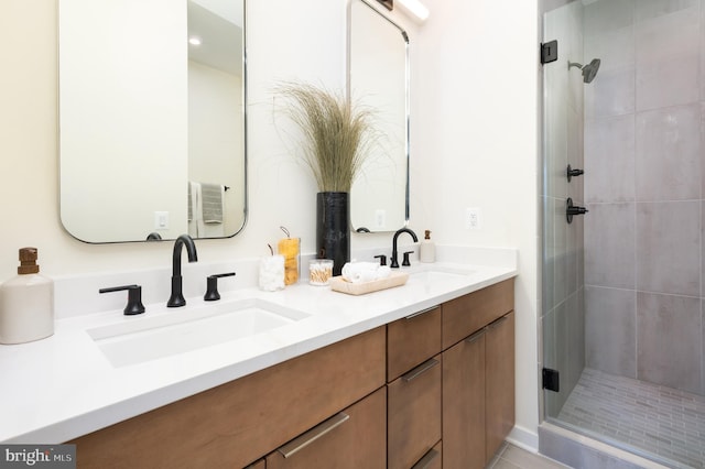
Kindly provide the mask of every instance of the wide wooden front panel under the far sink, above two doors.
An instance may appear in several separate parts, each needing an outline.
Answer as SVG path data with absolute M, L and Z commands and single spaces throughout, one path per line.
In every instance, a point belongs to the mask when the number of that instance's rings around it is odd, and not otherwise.
M 443 305 L 443 349 L 514 308 L 514 280 L 509 279 Z

